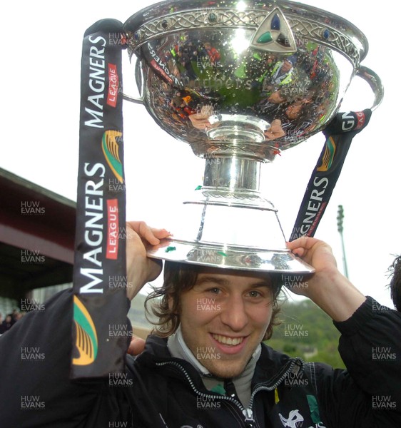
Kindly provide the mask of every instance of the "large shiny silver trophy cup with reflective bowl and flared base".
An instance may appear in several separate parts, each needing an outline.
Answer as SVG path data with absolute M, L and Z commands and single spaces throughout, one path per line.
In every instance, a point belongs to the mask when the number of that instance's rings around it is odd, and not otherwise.
M 162 1 L 124 28 L 148 113 L 205 159 L 174 240 L 150 254 L 311 272 L 285 248 L 276 210 L 259 192 L 260 165 L 322 131 L 355 74 L 376 91 L 377 76 L 360 66 L 365 36 L 286 0 Z

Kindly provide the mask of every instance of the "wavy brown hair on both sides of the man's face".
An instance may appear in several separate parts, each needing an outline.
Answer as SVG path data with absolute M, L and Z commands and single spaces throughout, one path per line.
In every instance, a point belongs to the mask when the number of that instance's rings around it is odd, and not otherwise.
M 155 325 L 153 334 L 168 337 L 173 335 L 180 325 L 181 293 L 193 288 L 198 274 L 204 267 L 188 263 L 166 261 L 164 264 L 163 286 L 153 288 L 153 292 L 146 297 L 146 317 Z M 268 274 L 267 274 L 268 275 Z M 273 291 L 273 312 L 270 324 L 265 332 L 263 340 L 268 340 L 273 335 L 273 326 L 280 324 L 277 315 L 280 312 L 279 295 L 282 287 L 280 275 L 270 275 Z M 149 303 L 152 302 L 151 307 Z M 156 315 L 158 320 L 151 320 L 148 315 Z

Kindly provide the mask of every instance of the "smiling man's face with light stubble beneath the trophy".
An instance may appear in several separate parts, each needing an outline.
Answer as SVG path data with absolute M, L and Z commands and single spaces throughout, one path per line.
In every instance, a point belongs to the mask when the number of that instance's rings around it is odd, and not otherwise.
M 181 295 L 186 345 L 216 377 L 243 372 L 263 340 L 273 295 L 266 274 L 206 267 Z

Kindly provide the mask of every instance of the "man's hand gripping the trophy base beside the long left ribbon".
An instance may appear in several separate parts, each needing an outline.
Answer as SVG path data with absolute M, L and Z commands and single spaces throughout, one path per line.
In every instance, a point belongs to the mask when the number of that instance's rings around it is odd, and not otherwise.
M 161 260 L 148 258 L 147 248 L 158 245 L 171 233 L 166 229 L 150 228 L 143 221 L 127 222 L 126 232 L 127 297 L 132 300 L 146 282 L 156 280 L 161 272 Z

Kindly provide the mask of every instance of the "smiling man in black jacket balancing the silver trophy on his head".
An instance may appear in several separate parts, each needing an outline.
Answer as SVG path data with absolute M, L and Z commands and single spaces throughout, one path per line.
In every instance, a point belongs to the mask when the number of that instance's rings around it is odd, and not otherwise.
M 169 234 L 143 222 L 128 230 L 131 300 L 161 272 L 147 245 Z M 121 355 L 122 375 L 69 379 L 71 290 L 2 335 L 0 378 L 9 388 L 0 388 L 1 427 L 400 427 L 401 313 L 362 295 L 322 241 L 304 237 L 288 248 L 315 268 L 291 290 L 333 318 L 348 370 L 265 345 L 279 310 L 280 275 L 166 262 L 163 286 L 147 300 L 158 317 L 155 334 L 137 357 Z M 23 346 L 44 359 L 21 364 Z

